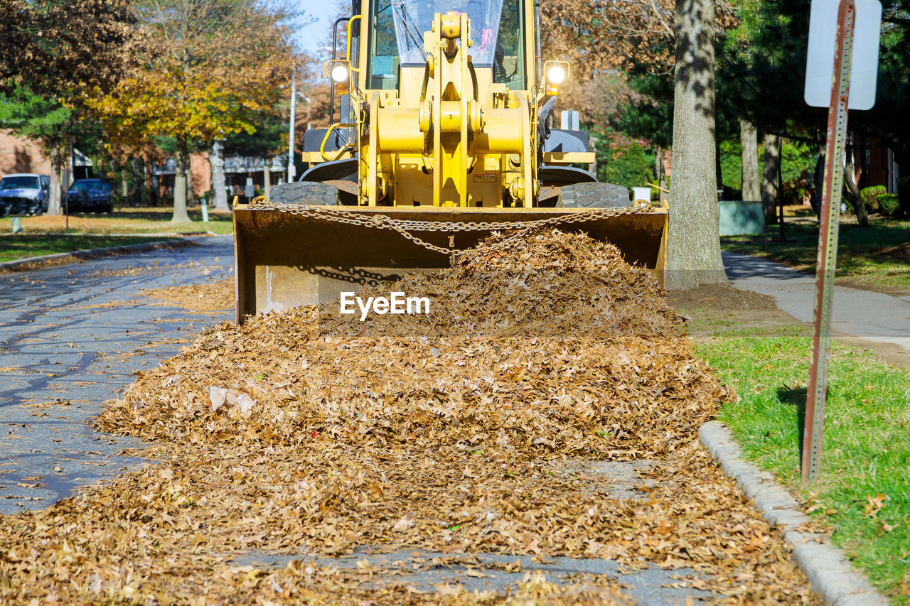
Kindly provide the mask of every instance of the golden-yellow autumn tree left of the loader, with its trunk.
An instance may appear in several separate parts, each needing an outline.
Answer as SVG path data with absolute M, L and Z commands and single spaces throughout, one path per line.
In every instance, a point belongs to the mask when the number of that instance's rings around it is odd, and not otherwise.
M 289 80 L 288 12 L 254 0 L 138 0 L 136 12 L 161 48 L 95 110 L 116 145 L 175 138 L 172 220 L 186 222 L 192 144 L 254 132 Z

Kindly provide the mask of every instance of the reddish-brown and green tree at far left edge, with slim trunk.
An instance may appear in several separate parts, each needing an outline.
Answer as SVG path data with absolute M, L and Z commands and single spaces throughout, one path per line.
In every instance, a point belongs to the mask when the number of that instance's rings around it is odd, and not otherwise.
M 64 149 L 93 125 L 85 107 L 145 48 L 122 0 L 0 0 L 0 126 L 37 139 L 51 160 L 49 214 L 60 213 Z

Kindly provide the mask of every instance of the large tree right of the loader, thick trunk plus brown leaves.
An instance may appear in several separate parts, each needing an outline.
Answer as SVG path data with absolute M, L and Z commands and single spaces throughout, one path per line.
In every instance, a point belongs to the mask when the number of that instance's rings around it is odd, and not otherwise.
M 716 5 L 716 6 L 715 6 Z M 541 5 L 547 58 L 573 77 L 610 69 L 674 74 L 670 288 L 723 282 L 717 208 L 714 33 L 736 23 L 715 0 L 565 0 Z

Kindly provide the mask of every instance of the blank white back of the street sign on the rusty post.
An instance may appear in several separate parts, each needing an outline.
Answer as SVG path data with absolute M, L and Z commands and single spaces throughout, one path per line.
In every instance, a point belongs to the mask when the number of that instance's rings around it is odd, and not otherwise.
M 854 0 L 853 59 L 850 68 L 849 109 L 872 109 L 878 76 L 878 39 L 882 29 L 882 3 Z M 809 17 L 809 53 L 805 60 L 805 102 L 814 107 L 831 105 L 834 83 L 834 46 L 837 45 L 839 0 L 812 0 Z

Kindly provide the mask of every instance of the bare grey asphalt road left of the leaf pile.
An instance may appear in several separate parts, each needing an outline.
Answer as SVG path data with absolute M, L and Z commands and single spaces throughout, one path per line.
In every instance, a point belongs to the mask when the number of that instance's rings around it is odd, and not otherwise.
M 143 288 L 233 275 L 231 237 L 0 275 L 0 513 L 42 509 L 144 460 L 86 425 L 138 370 L 233 318 L 162 305 Z

